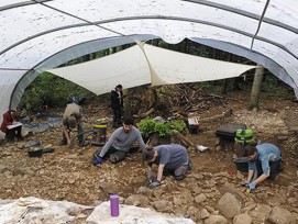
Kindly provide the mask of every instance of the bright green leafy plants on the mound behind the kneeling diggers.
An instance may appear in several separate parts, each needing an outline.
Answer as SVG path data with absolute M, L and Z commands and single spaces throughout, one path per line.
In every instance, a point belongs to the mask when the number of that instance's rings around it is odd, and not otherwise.
M 153 121 L 152 119 L 143 119 L 137 123 L 137 127 L 145 137 L 150 137 L 153 133 L 157 133 L 161 137 L 168 137 L 174 130 L 180 133 L 185 132 L 186 123 L 183 120 L 159 122 Z

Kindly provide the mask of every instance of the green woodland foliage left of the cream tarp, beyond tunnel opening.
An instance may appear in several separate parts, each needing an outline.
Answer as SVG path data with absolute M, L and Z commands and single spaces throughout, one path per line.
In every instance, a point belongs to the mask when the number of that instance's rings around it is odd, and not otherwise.
M 65 107 L 71 96 L 82 98 L 95 94 L 68 80 L 44 72 L 26 88 L 19 110 L 35 113 L 44 111 L 45 105 L 48 108 Z

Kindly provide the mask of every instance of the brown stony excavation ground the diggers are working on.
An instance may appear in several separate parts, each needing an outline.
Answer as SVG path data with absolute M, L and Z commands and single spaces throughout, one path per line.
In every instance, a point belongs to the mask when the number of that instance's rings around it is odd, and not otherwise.
M 118 165 L 106 161 L 100 168 L 95 167 L 91 158 L 97 147 L 58 146 L 62 131 L 56 127 L 0 146 L 0 198 L 33 195 L 90 205 L 117 193 L 125 204 L 183 215 L 196 223 L 298 223 L 298 103 L 263 100 L 261 110 L 251 112 L 245 109 L 245 100 L 223 101 L 203 112 L 194 112 L 201 120 L 200 131 L 186 137 L 209 150 L 198 153 L 189 148 L 194 166 L 183 181 L 166 177 L 158 189 L 148 189 L 140 153 Z M 110 113 L 106 108 L 85 108 L 86 130 L 96 119 Z M 252 193 L 245 192 L 240 183 L 246 173 L 236 169 L 233 149 L 220 149 L 217 145 L 214 132 L 227 123 L 245 123 L 258 139 L 282 148 L 285 168 L 274 181 L 265 181 Z M 55 152 L 41 158 L 29 157 L 24 145 L 30 139 L 41 139 Z M 84 220 L 80 216 L 75 223 Z

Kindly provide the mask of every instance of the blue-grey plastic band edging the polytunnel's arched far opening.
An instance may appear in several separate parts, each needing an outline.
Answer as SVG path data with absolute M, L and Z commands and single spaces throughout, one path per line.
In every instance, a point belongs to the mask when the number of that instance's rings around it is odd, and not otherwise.
M 109 47 L 115 47 L 123 44 L 135 43 L 135 41 L 148 41 L 148 40 L 154 40 L 154 38 L 158 38 L 158 37 L 154 35 L 109 37 L 106 40 L 96 40 L 96 41 L 89 41 L 87 43 L 80 43 L 76 46 L 71 46 L 66 49 L 63 49 L 62 52 L 56 53 L 55 55 L 52 55 L 51 57 L 41 61 L 38 65 L 36 65 L 34 68 L 32 68 L 30 71 L 25 72 L 22 76 L 22 78 L 18 81 L 18 83 L 15 85 L 12 91 L 10 108 L 16 108 L 16 105 L 19 104 L 24 93 L 25 88 L 38 76 L 38 74 L 45 71 L 46 69 L 55 68 L 71 59 L 75 59 L 80 56 L 91 54 L 98 51 L 102 51 Z M 283 81 L 289 85 L 290 87 L 298 88 L 295 85 L 293 78 L 287 75 L 287 72 L 285 71 L 283 67 L 280 67 L 278 64 L 276 64 L 274 60 L 269 59 L 268 57 L 261 55 L 260 53 L 254 53 L 243 47 L 232 45 L 229 43 L 222 43 L 219 41 L 203 40 L 203 38 L 189 38 L 189 40 L 199 44 L 203 44 L 206 46 L 211 46 L 221 51 L 236 54 L 239 56 L 243 56 L 247 59 L 258 63 L 263 65 L 265 68 L 267 68 L 271 72 L 273 72 L 276 77 L 278 77 L 279 79 L 283 79 Z M 288 79 L 286 79 L 286 77 Z

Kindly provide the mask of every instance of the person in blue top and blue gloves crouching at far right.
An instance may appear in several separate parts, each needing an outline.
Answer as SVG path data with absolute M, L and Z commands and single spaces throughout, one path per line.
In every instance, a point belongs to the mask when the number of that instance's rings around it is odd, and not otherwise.
M 249 163 L 249 175 L 245 184 L 250 191 L 264 180 L 272 179 L 282 171 L 282 153 L 271 143 L 247 144 L 244 147 Z

